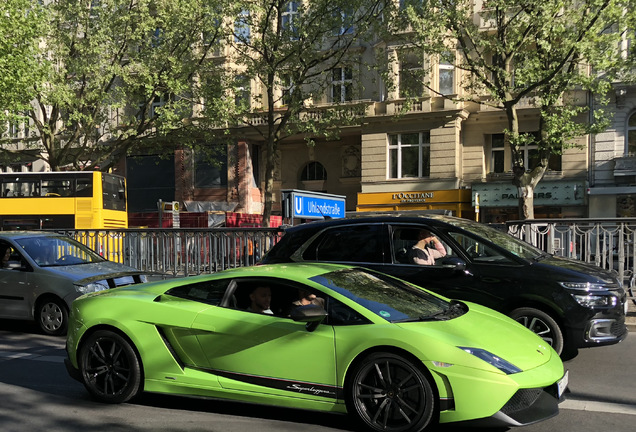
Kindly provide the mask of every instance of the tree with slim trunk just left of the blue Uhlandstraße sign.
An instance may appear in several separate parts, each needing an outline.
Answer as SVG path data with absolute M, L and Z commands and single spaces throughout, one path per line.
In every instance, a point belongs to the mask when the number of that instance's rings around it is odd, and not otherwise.
M 353 49 L 381 21 L 383 6 L 381 0 L 239 0 L 227 10 L 235 18 L 222 26 L 229 65 L 224 87 L 230 92 L 208 94 L 203 118 L 216 130 L 225 119 L 234 136 L 252 133 L 264 143 L 266 224 L 279 144 L 302 136 L 313 145 L 316 138 L 337 135 L 339 127 L 360 118 L 362 105 L 346 97 L 334 98 L 329 110 L 317 110 L 312 101 L 325 94 L 334 71 L 356 64 Z M 251 83 L 258 92 L 249 91 Z M 349 90 L 355 91 L 344 91 Z

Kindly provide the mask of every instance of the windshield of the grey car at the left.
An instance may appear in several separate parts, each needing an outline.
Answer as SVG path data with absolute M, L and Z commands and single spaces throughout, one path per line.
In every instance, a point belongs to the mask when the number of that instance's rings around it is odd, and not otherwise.
M 102 262 L 104 258 L 65 236 L 16 239 L 22 250 L 40 267 Z

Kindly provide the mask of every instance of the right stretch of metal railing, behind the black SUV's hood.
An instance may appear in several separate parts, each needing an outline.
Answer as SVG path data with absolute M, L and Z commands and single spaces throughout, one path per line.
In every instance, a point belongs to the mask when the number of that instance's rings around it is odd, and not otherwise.
M 533 219 L 506 226 L 510 234 L 548 253 L 616 270 L 626 284 L 634 283 L 636 218 Z

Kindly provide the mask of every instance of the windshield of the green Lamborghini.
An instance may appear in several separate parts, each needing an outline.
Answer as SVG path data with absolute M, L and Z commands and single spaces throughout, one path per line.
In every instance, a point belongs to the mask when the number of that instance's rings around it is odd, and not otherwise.
M 311 278 L 390 322 L 422 320 L 443 314 L 450 304 L 428 292 L 360 268 Z

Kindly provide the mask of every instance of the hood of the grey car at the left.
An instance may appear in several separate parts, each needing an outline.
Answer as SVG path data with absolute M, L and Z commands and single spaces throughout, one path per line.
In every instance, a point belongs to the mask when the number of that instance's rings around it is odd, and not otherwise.
M 114 286 L 128 285 L 133 283 L 132 276 L 145 274 L 133 267 L 128 267 L 112 261 L 67 266 L 51 266 L 44 267 L 44 269 L 47 273 L 68 278 L 73 282 L 80 284 L 112 279 L 115 282 L 113 284 Z

